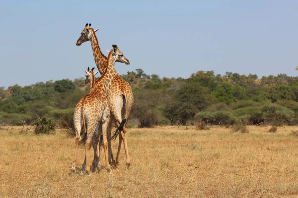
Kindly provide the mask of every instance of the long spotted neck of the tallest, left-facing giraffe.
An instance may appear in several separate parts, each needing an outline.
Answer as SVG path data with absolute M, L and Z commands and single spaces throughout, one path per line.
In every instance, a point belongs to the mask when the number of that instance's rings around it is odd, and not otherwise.
M 90 42 L 91 42 L 91 47 L 93 51 L 94 61 L 99 73 L 103 75 L 107 69 L 106 68 L 107 57 L 101 52 L 99 48 L 95 31 L 92 28 L 90 28 L 89 31 L 90 31 Z

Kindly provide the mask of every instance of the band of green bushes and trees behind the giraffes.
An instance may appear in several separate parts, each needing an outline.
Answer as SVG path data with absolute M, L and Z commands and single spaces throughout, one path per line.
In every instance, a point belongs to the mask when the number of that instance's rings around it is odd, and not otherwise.
M 190 78 L 159 78 L 142 69 L 121 76 L 130 83 L 135 104 L 131 124 L 275 126 L 298 124 L 298 77 L 198 71 Z M 88 92 L 84 78 L 63 79 L 7 90 L 0 88 L 0 124 L 34 124 L 48 117 L 70 127 L 74 106 Z

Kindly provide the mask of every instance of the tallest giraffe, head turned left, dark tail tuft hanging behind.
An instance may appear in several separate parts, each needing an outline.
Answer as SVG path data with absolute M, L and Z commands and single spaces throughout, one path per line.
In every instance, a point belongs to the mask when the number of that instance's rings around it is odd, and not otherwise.
M 95 64 L 96 64 L 100 74 L 103 74 L 106 70 L 107 57 L 101 52 L 97 37 L 95 35 L 95 32 L 98 29 L 95 29 L 93 31 L 89 31 L 89 30 L 93 30 L 93 28 L 91 28 L 91 24 L 89 24 L 89 26 L 88 26 L 88 24 L 86 24 L 85 28 L 82 30 L 81 35 L 76 42 L 76 45 L 80 46 L 84 42 L 87 42 L 87 41 L 91 42 L 91 47 L 92 47 Z M 91 35 L 90 35 L 90 33 L 91 33 Z M 118 60 L 116 60 L 116 61 L 118 61 Z M 120 59 L 119 62 L 123 62 L 123 60 Z M 123 141 L 125 155 L 126 155 L 125 170 L 128 170 L 129 166 L 130 166 L 130 158 L 129 158 L 129 154 L 128 154 L 128 146 L 127 146 L 127 140 L 126 140 L 127 129 L 125 126 L 126 126 L 126 123 L 128 121 L 128 118 L 129 118 L 132 108 L 133 108 L 134 95 L 133 95 L 133 92 L 132 92 L 132 89 L 131 89 L 129 83 L 127 83 L 125 80 L 123 80 L 118 75 L 116 70 L 114 70 L 114 78 L 113 78 L 110 90 L 108 92 L 108 99 L 109 99 L 109 104 L 110 104 L 110 111 L 112 114 L 110 121 L 109 121 L 108 130 L 107 130 L 109 162 L 110 163 L 113 162 L 113 163 L 115 163 L 116 166 L 118 166 L 121 144 Z M 117 151 L 116 161 L 114 161 L 111 142 L 110 142 L 112 124 L 113 124 L 113 122 L 116 122 L 116 125 L 120 126 L 123 119 L 126 119 L 126 120 L 125 120 L 123 129 L 120 131 L 121 134 L 119 136 L 118 151 Z

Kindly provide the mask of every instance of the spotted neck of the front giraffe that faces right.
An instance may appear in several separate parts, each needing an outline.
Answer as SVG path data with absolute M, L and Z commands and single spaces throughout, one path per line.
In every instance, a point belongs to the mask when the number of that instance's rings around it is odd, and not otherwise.
M 101 87 L 101 89 L 105 92 L 108 93 L 113 77 L 114 77 L 114 67 L 115 67 L 115 61 L 116 61 L 116 56 L 113 56 L 113 50 L 110 51 L 108 55 L 108 59 L 106 62 L 106 71 L 104 74 L 95 82 L 96 87 Z

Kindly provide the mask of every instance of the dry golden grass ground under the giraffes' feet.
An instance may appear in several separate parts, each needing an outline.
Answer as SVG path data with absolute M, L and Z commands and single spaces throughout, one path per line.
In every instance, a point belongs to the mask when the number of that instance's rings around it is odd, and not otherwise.
M 130 169 L 122 147 L 112 175 L 103 169 L 84 176 L 70 173 L 74 139 L 62 130 L 34 135 L 9 128 L 0 131 L 0 197 L 297 198 L 298 137 L 291 131 L 298 127 L 247 128 L 132 128 Z M 118 140 L 112 144 L 115 155 Z

